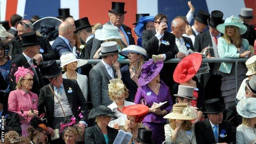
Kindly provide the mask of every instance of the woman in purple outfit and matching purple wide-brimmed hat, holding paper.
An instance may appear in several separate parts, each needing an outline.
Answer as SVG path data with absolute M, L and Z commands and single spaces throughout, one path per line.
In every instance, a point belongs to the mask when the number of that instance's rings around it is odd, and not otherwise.
M 163 67 L 162 61 L 154 62 L 149 60 L 142 65 L 138 84 L 141 86 L 137 89 L 134 103 L 143 103 L 149 108 L 149 113 L 143 119 L 142 123 L 152 130 L 152 137 L 156 144 L 161 144 L 165 140 L 164 126 L 166 120 L 163 118 L 172 108 L 172 99 L 169 87 L 160 80 L 160 71 Z M 154 107 L 153 103 L 167 102 L 162 107 Z

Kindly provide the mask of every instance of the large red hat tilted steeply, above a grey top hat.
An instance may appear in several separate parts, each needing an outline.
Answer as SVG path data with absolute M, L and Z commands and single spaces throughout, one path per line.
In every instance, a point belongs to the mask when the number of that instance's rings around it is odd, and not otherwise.
M 187 82 L 197 73 L 201 66 L 202 55 L 200 53 L 192 53 L 184 57 L 174 70 L 174 81 L 177 83 Z

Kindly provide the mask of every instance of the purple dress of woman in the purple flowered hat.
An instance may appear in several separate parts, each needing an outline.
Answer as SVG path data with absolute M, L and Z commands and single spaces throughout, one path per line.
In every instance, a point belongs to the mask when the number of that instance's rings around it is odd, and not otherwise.
M 146 105 L 151 107 L 153 102 L 160 103 L 167 101 L 167 103 L 160 107 L 160 109 L 170 112 L 173 103 L 169 87 L 167 87 L 162 80 L 160 84 L 161 86 L 158 95 L 156 95 L 148 85 L 139 87 L 135 95 L 134 103 L 140 104 L 141 100 L 144 99 Z M 164 126 L 166 121 L 167 119 L 164 119 L 162 115 L 157 115 L 153 112 L 146 114 L 146 117 L 142 121 L 145 126 L 148 126 L 149 129 L 152 130 L 152 138 L 155 140 L 155 144 L 162 144 L 162 142 L 165 141 Z

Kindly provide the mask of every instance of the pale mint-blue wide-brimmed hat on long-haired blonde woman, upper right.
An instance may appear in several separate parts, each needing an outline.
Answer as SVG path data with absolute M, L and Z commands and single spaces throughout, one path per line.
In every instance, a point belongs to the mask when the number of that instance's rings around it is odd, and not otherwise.
M 229 18 L 226 18 L 224 23 L 217 25 L 216 28 L 219 32 L 224 34 L 226 26 L 233 25 L 238 27 L 240 34 L 244 34 L 247 31 L 247 27 L 243 23 L 241 18 L 230 16 Z

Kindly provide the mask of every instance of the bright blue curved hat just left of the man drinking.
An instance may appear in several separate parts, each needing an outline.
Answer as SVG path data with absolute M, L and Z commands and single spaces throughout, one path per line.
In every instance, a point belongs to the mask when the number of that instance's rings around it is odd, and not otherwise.
M 142 32 L 144 30 L 144 25 L 149 22 L 149 21 L 154 21 L 153 16 L 141 16 L 138 20 L 137 25 L 135 26 L 135 33 L 139 36 L 142 37 Z

